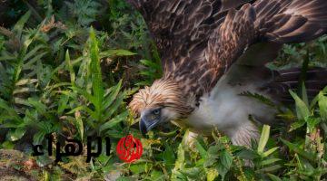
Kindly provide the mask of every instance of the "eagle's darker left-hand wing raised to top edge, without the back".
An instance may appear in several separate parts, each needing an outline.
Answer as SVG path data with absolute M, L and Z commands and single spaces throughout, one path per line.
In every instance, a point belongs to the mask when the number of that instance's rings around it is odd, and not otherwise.
M 223 22 L 227 10 L 249 1 L 127 0 L 143 14 L 161 53 L 165 75 L 193 52 L 205 48 L 210 34 Z

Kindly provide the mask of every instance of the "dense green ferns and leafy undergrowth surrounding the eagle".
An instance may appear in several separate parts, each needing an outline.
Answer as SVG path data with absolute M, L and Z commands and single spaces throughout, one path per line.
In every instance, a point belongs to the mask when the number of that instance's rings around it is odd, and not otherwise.
M 327 179 L 327 88 L 311 101 L 291 91 L 294 104 L 278 115 L 285 124 L 264 126 L 252 149 L 233 146 L 218 131 L 190 148 L 183 140 L 188 131 L 173 126 L 144 138 L 126 106 L 162 72 L 140 14 L 121 0 L 13 1 L 10 14 L 16 22 L 0 26 L 0 148 L 22 150 L 25 159 L 0 152 L 0 176 L 11 167 L 37 180 Z M 285 45 L 270 67 L 306 58 L 327 67 L 326 36 Z M 142 139 L 144 155 L 125 164 L 114 148 L 129 133 Z M 84 156 L 58 164 L 46 154 L 32 157 L 31 144 L 46 146 L 49 134 L 84 143 L 87 136 L 110 137 L 112 154 L 90 164 Z

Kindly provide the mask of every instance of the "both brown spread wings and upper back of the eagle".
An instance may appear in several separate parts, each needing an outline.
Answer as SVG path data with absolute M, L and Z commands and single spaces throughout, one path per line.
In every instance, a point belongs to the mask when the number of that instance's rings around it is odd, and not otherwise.
M 212 90 L 251 44 L 306 42 L 327 30 L 326 0 L 127 1 L 144 15 L 165 77 L 196 96 Z

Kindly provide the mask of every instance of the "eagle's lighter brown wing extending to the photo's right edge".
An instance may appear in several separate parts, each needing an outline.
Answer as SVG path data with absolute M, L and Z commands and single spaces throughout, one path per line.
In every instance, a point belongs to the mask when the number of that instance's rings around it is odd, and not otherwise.
M 258 0 L 230 10 L 205 50 L 212 71 L 205 79 L 213 82 L 206 91 L 253 43 L 299 43 L 326 33 L 326 7 L 325 0 Z

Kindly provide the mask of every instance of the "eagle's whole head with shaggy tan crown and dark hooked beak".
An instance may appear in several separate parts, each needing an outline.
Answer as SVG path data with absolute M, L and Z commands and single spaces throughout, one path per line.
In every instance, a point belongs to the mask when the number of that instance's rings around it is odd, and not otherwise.
M 178 83 L 167 79 L 154 81 L 151 87 L 139 90 L 129 108 L 141 117 L 143 134 L 165 122 L 186 118 L 193 111 Z

